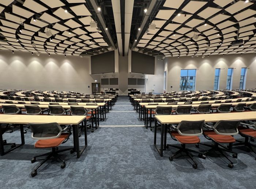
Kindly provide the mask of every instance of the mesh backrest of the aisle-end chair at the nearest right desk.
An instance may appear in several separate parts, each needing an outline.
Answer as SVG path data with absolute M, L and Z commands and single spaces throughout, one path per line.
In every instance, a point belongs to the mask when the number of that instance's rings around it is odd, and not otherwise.
M 203 133 L 204 120 L 181 121 L 177 126 L 177 131 L 183 136 L 198 136 Z

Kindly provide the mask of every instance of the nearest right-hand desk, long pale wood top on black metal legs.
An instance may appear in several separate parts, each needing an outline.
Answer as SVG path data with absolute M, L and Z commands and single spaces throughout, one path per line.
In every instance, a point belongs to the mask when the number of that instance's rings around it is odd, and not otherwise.
M 191 114 L 191 115 L 156 115 L 154 130 L 154 146 L 160 156 L 163 156 L 163 150 L 166 149 L 167 124 L 178 124 L 183 120 L 204 122 L 218 122 L 219 120 L 255 120 L 256 111 L 251 112 L 234 112 L 219 114 Z M 160 148 L 156 144 L 157 141 L 157 122 L 161 123 L 161 143 Z

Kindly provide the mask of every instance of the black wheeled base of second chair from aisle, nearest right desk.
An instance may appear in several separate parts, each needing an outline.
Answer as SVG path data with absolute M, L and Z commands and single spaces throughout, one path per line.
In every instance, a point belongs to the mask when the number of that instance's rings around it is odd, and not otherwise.
M 212 141 L 212 142 L 214 142 L 214 141 Z M 231 145 L 229 146 L 229 148 L 227 148 L 227 147 L 225 147 L 225 146 L 223 146 L 223 145 L 221 145 L 221 144 L 219 144 L 219 143 L 217 143 L 217 142 L 214 142 L 214 145 L 208 145 L 208 144 L 204 144 L 204 143 L 197 143 L 197 144 L 196 144 L 196 147 L 199 147 L 199 144 L 200 144 L 200 145 L 204 145 L 204 146 L 211 147 L 211 149 L 209 149 L 209 150 L 207 150 L 206 152 L 204 152 L 205 154 L 207 154 L 209 151 L 212 151 L 212 150 L 218 151 L 218 152 L 219 152 L 221 155 L 223 155 L 227 160 L 229 160 L 229 162 L 230 162 L 230 163 L 228 164 L 229 168 L 233 168 L 233 167 L 234 167 L 233 162 L 227 157 L 226 154 L 223 153 L 223 151 L 232 153 L 232 157 L 233 157 L 233 158 L 237 158 L 237 153 L 231 151 Z M 221 146 L 222 148 L 219 147 L 219 146 Z

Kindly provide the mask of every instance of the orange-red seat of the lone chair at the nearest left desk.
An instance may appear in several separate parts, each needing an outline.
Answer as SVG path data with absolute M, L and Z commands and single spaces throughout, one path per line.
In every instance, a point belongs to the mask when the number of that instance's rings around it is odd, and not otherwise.
M 68 138 L 68 133 L 62 133 L 59 138 L 38 140 L 35 143 L 35 147 L 36 148 L 57 147 L 57 146 L 61 145 L 61 143 L 67 138 Z

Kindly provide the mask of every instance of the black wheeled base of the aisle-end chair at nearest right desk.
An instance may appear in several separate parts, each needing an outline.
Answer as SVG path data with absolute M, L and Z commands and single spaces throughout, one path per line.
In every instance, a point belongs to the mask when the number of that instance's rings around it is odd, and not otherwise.
M 178 151 L 176 151 L 173 155 L 171 155 L 171 156 L 169 157 L 169 160 L 170 160 L 170 161 L 172 161 L 173 158 L 174 158 L 176 155 L 180 154 L 181 152 L 185 152 L 186 155 L 193 161 L 194 164 L 192 164 L 192 167 L 193 167 L 194 169 L 197 169 L 197 163 L 196 163 L 196 161 L 193 159 L 193 156 L 195 156 L 195 155 L 193 155 L 192 153 L 189 153 L 189 152 L 197 153 L 197 154 L 198 154 L 198 157 L 200 157 L 200 158 L 203 158 L 203 159 L 206 158 L 206 155 L 204 155 L 204 153 L 200 153 L 200 152 L 195 151 L 195 150 L 187 149 L 185 144 L 181 144 L 181 147 L 180 147 L 180 146 L 175 146 L 175 145 L 167 144 L 166 147 L 168 148 L 169 146 L 175 147 L 175 148 L 178 148 L 178 149 L 179 149 Z

